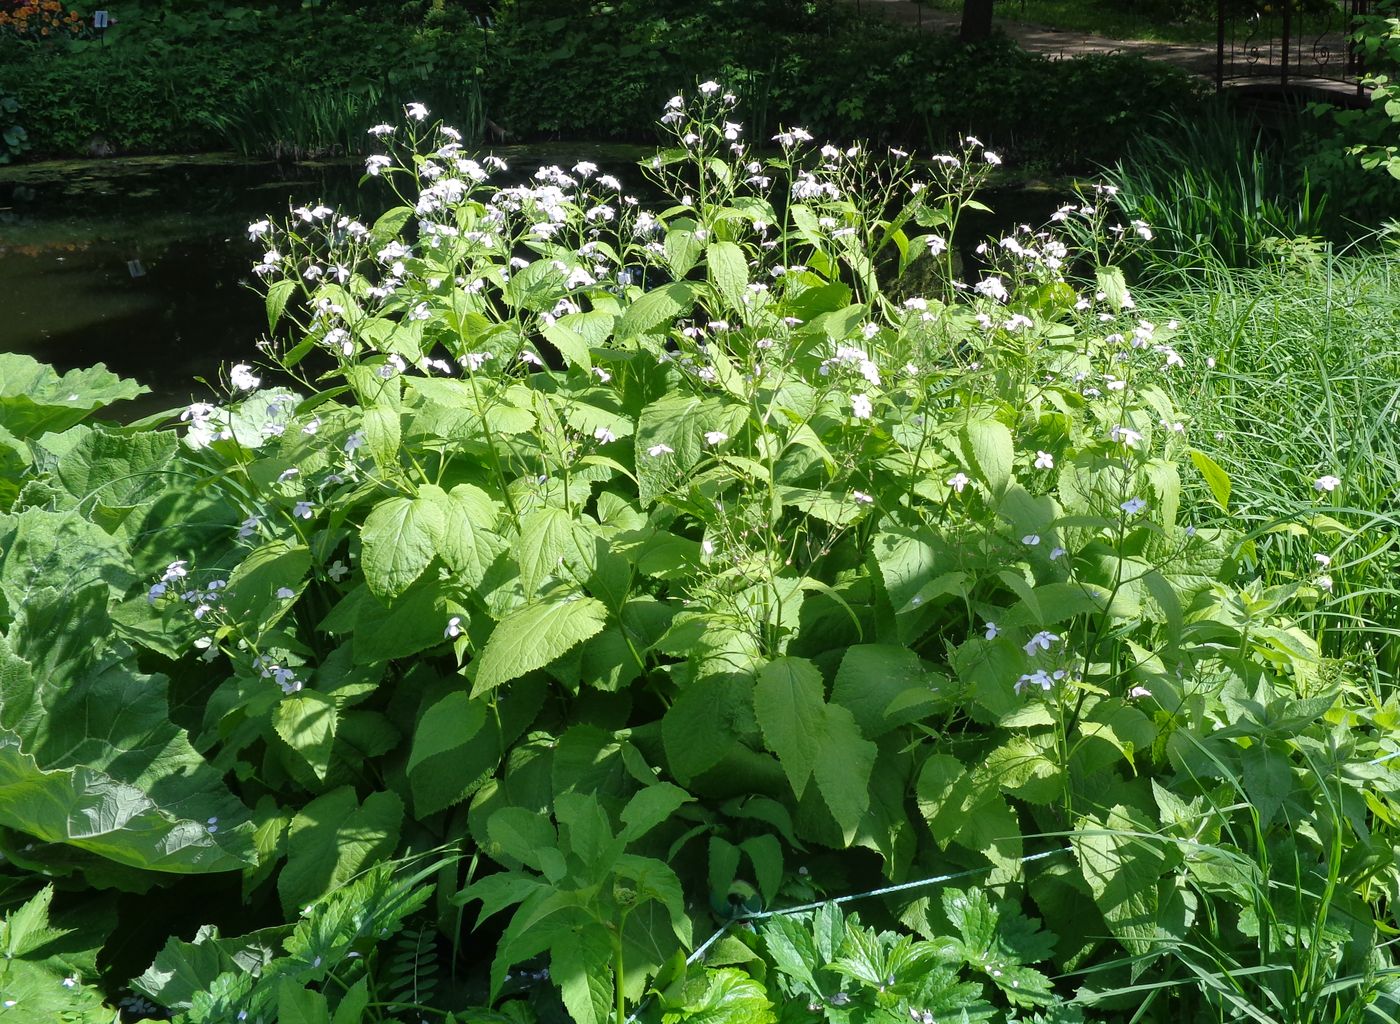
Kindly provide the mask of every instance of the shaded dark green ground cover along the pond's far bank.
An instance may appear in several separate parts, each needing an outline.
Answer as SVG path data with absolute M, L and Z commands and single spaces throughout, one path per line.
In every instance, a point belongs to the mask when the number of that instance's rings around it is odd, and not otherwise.
M 410 13 L 417 11 L 410 6 Z M 11 59 L 13 57 L 13 59 Z M 503 3 L 494 28 L 452 6 L 368 10 L 197 4 L 126 14 L 105 43 L 14 45 L 0 85 L 36 147 L 84 153 L 234 146 L 298 155 L 363 148 L 413 95 L 470 137 L 650 140 L 668 80 L 722 73 L 755 129 L 942 146 L 977 126 L 1036 168 L 1109 160 L 1154 111 L 1200 87 L 1131 57 L 1053 62 L 997 38 L 910 36 L 850 4 Z

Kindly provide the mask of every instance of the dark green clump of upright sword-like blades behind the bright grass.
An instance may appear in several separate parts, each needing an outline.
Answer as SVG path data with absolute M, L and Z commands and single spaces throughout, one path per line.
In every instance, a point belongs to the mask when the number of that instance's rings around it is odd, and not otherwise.
M 1159 270 L 1253 265 L 1270 238 L 1322 235 L 1327 199 L 1299 160 L 1298 129 L 1228 104 L 1163 118 L 1105 171 L 1131 219 L 1155 233 Z

